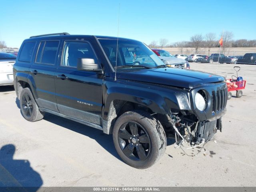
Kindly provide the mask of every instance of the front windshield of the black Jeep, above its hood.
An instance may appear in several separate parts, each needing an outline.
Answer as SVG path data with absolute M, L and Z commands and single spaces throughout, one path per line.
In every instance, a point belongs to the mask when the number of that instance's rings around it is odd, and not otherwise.
M 116 66 L 117 68 L 126 66 L 127 68 L 131 66 L 153 68 L 164 65 L 162 60 L 142 42 L 119 39 L 116 59 L 117 40 L 99 39 L 99 41 L 113 68 Z

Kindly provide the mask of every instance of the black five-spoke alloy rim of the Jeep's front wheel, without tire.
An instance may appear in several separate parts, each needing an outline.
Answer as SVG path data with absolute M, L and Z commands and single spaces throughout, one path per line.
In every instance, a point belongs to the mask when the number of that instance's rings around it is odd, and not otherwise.
M 148 133 L 136 122 L 127 122 L 120 127 L 118 142 L 123 153 L 131 160 L 145 160 L 150 154 Z

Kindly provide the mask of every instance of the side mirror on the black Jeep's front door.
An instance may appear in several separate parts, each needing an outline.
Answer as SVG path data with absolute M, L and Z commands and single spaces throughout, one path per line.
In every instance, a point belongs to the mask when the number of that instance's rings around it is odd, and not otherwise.
M 80 71 L 102 71 L 99 64 L 96 64 L 94 59 L 91 58 L 78 58 L 77 59 L 77 70 Z

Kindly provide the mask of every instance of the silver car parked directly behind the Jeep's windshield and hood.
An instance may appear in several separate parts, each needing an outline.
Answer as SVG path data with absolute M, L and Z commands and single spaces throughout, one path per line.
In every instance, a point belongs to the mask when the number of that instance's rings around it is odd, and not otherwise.
M 152 51 L 166 64 L 168 67 L 186 69 L 186 61 L 176 58 L 166 50 L 152 49 Z

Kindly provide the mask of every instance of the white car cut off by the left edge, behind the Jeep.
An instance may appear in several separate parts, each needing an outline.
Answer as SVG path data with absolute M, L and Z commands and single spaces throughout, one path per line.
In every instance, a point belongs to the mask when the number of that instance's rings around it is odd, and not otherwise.
M 0 86 L 13 85 L 13 64 L 16 56 L 10 53 L 0 52 Z

